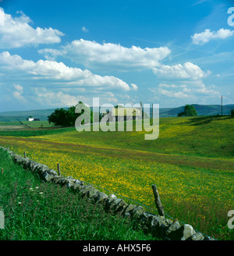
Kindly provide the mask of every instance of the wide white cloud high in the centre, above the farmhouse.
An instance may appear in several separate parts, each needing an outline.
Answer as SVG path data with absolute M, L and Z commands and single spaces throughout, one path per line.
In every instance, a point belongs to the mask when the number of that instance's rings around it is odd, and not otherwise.
M 72 41 L 60 51 L 45 48 L 38 52 L 53 59 L 57 55 L 62 55 L 84 66 L 98 67 L 101 65 L 145 69 L 158 66 L 158 62 L 165 59 L 171 51 L 167 47 L 140 48 L 133 45 L 131 48 L 126 48 L 120 44 L 98 44 L 96 41 L 80 39 Z

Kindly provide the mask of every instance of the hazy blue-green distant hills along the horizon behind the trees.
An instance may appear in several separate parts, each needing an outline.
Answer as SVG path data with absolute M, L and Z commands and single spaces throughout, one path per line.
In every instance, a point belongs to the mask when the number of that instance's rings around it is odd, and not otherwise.
M 221 115 L 221 105 L 197 105 L 193 104 L 197 110 L 198 116 L 215 116 Z M 66 108 L 67 109 L 67 108 Z M 230 115 L 231 110 L 234 109 L 234 104 L 223 105 L 223 115 Z M 160 108 L 160 117 L 172 117 L 177 116 L 179 112 L 183 112 L 184 106 L 179 108 Z M 12 121 L 26 121 L 28 116 L 34 118 L 47 120 L 48 116 L 55 111 L 55 108 L 29 110 L 29 111 L 12 111 L 12 112 L 0 112 L 0 122 L 12 122 Z

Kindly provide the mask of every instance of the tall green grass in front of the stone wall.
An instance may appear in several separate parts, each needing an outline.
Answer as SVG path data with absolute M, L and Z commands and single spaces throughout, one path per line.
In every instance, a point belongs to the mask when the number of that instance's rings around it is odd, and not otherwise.
M 35 179 L 1 149 L 0 168 L 0 240 L 154 240 L 100 204 Z

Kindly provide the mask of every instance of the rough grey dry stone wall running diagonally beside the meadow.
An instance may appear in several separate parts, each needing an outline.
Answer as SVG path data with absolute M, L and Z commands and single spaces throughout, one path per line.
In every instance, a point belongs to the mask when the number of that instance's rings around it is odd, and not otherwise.
M 74 179 L 71 176 L 58 176 L 58 173 L 48 166 L 41 163 L 34 162 L 30 158 L 24 158 L 21 155 L 9 151 L 12 160 L 23 169 L 30 170 L 39 176 L 44 182 L 55 183 L 61 186 L 66 186 L 69 189 L 80 193 L 83 197 L 88 197 L 95 203 L 103 204 L 107 212 L 114 214 L 121 214 L 132 219 L 134 222 L 140 224 L 142 229 L 146 232 L 152 233 L 154 237 L 161 238 L 161 240 L 214 240 L 210 236 L 204 236 L 202 233 L 197 233 L 189 224 L 180 225 L 178 221 L 166 219 L 164 216 L 154 215 L 146 212 L 140 205 L 128 204 L 121 198 L 117 198 L 115 194 L 107 195 L 91 185 L 85 185 L 83 181 Z

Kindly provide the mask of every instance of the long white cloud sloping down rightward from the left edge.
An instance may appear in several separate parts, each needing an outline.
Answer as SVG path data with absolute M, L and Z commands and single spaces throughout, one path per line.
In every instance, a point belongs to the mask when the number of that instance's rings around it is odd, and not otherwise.
M 10 55 L 9 52 L 0 53 L 0 67 L 5 69 L 5 72 L 18 72 L 19 77 L 20 74 L 29 74 L 34 80 L 51 80 L 51 83 L 61 83 L 65 87 L 95 87 L 123 91 L 131 89 L 126 82 L 115 76 L 99 76 L 87 69 L 66 66 L 63 62 L 42 59 L 34 62 L 22 59 L 19 55 Z M 25 77 L 27 79 L 27 76 Z M 136 89 L 136 86 L 132 87 Z

